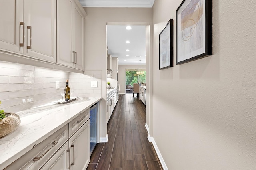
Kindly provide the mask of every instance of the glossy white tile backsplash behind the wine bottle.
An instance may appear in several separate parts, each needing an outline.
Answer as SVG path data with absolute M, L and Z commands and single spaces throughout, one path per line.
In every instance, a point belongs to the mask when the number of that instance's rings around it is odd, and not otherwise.
M 101 97 L 101 71 L 85 71 L 85 74 L 45 69 L 30 65 L 0 61 L 0 109 L 18 112 L 61 99 L 56 81 L 60 87 L 74 88 L 73 96 Z M 91 88 L 90 81 L 97 81 L 98 87 Z

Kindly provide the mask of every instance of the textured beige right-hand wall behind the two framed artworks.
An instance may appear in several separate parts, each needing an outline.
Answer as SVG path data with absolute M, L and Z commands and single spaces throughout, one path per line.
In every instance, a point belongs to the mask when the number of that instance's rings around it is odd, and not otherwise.
M 175 65 L 176 9 L 153 6 L 152 136 L 169 170 L 256 168 L 256 1 L 213 0 L 213 55 Z M 174 67 L 158 70 L 174 19 Z

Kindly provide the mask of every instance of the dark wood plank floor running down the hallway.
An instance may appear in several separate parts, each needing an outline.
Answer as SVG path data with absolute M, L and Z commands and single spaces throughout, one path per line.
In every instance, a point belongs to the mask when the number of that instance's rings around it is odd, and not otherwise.
M 162 170 L 145 123 L 146 107 L 136 95 L 119 95 L 107 125 L 108 143 L 96 145 L 87 170 Z

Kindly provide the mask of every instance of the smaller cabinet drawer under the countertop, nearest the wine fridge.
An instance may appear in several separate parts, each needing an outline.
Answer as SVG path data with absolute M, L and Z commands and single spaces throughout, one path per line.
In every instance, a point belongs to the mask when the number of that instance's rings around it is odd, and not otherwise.
M 79 113 L 75 119 L 68 123 L 69 125 L 69 137 L 71 137 L 76 130 L 78 130 L 90 117 L 90 109 Z

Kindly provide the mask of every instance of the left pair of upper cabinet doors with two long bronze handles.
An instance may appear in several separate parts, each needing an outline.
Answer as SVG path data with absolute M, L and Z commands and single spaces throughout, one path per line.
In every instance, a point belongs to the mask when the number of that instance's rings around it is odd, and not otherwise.
M 1 0 L 0 6 L 1 50 L 55 63 L 56 0 Z

